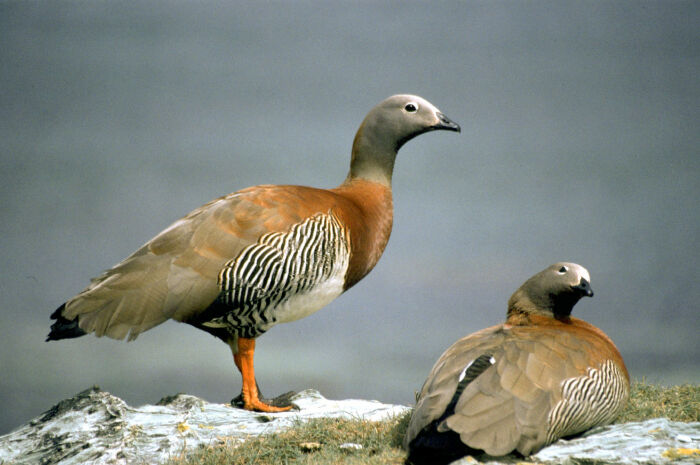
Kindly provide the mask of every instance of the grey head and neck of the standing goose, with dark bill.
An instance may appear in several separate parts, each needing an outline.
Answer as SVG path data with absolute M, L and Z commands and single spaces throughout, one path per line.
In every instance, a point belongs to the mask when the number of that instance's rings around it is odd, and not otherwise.
M 460 132 L 457 123 L 417 95 L 394 95 L 372 108 L 355 135 L 348 179 L 391 185 L 396 154 L 403 144 L 428 131 Z

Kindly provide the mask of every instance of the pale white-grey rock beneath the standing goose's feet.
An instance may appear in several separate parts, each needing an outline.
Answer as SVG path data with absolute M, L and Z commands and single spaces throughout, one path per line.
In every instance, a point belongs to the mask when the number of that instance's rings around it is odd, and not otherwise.
M 383 420 L 408 407 L 367 400 L 328 400 L 318 391 L 292 398 L 297 411 L 263 414 L 179 394 L 158 405 L 131 407 L 87 389 L 0 437 L 0 464 L 159 463 L 199 445 L 241 441 L 298 420 L 319 417 Z

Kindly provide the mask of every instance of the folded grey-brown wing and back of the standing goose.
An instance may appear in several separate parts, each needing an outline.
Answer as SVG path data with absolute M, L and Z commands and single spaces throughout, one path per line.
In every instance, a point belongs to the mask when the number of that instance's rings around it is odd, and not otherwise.
M 309 201 L 312 199 L 312 201 Z M 97 336 L 134 339 L 169 318 L 187 321 L 219 293 L 224 264 L 268 232 L 328 211 L 327 191 L 257 186 L 214 200 L 176 221 L 66 303 L 63 316 Z

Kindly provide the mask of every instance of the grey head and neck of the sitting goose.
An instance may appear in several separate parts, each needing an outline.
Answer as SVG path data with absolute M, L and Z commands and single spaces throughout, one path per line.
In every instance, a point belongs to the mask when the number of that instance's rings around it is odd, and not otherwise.
M 588 270 L 576 263 L 558 262 L 523 283 L 508 301 L 514 313 L 567 318 L 581 297 L 593 297 Z

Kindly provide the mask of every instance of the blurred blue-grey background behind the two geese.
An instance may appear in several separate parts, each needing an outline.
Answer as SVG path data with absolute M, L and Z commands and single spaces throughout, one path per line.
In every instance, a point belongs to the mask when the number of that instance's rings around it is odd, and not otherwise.
M 700 381 L 700 3 L 0 3 L 0 433 L 93 384 L 127 402 L 240 390 L 165 323 L 45 343 L 49 314 L 190 210 L 333 187 L 395 93 L 462 125 L 408 143 L 376 269 L 258 341 L 263 392 L 410 404 L 458 338 L 558 260 L 633 377 Z

